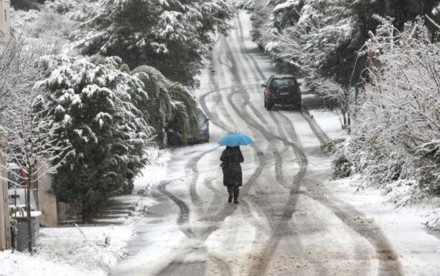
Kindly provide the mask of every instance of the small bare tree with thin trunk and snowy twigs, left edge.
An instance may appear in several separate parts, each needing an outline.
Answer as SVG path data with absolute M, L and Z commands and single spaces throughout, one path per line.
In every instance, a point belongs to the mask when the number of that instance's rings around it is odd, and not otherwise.
M 47 174 L 56 173 L 65 161 L 70 145 L 58 137 L 61 125 L 54 122 L 47 94 L 34 84 L 44 76 L 38 58 L 44 51 L 25 39 L 11 38 L 0 45 L 0 132 L 6 145 L 0 155 L 15 163 L 21 174 L 1 165 L 17 179 L 14 185 L 26 189 L 28 251 L 32 253 L 30 194 Z M 0 175 L 0 178 L 3 178 Z M 11 179 L 4 179 L 12 181 Z M 24 185 L 23 185 L 24 183 Z

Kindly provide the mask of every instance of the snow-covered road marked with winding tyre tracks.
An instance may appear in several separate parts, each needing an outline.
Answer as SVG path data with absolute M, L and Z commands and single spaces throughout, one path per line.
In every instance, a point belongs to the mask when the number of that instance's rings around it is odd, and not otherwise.
M 250 16 L 219 36 L 197 100 L 210 117 L 210 143 L 179 148 L 155 195 L 160 204 L 112 275 L 401 275 L 399 256 L 375 221 L 325 187 L 327 137 L 305 113 L 266 111 L 274 69 L 250 38 Z M 306 91 L 303 91 L 306 92 Z M 305 106 L 314 97 L 304 93 Z M 243 187 L 227 203 L 217 142 L 250 135 Z

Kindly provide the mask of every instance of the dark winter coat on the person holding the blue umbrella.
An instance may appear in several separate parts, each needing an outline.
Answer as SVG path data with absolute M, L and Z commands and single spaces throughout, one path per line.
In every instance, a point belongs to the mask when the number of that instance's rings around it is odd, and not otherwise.
M 241 186 L 243 185 L 241 165 L 243 163 L 243 154 L 239 146 L 229 147 L 221 153 L 221 168 L 223 169 L 223 185 L 225 186 Z

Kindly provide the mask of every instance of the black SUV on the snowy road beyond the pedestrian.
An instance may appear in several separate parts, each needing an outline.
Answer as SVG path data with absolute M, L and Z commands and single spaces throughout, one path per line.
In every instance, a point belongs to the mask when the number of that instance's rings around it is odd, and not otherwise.
M 300 84 L 294 76 L 271 76 L 266 84 L 261 84 L 264 90 L 264 107 L 270 110 L 275 105 L 292 106 L 301 110 Z

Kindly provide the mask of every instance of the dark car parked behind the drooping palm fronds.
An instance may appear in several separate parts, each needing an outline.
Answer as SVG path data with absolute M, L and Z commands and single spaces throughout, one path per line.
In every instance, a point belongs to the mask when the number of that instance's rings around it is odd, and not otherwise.
M 205 113 L 200 108 L 197 108 L 197 122 L 199 126 L 199 132 L 196 136 L 187 135 L 186 143 L 203 143 L 209 142 L 209 118 L 206 117 Z M 173 120 L 168 124 L 166 130 L 166 143 L 168 146 L 177 146 L 184 144 L 182 141 L 183 128 L 177 120 Z

